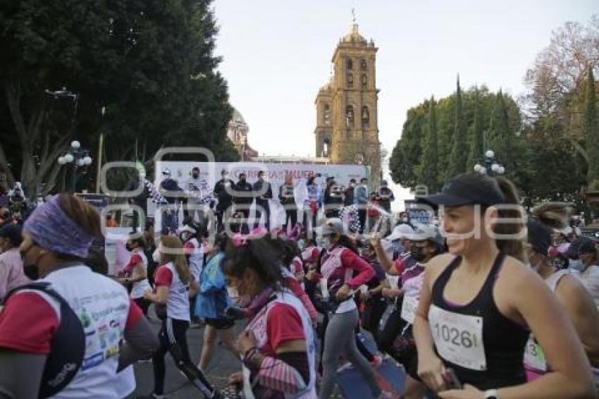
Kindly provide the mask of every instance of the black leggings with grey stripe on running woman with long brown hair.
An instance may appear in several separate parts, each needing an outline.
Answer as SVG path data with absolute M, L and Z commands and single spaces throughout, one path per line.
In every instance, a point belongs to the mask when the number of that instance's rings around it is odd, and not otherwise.
M 190 351 L 187 348 L 187 327 L 189 327 L 189 322 L 185 320 L 175 320 L 167 317 L 166 320 L 162 321 L 162 328 L 158 333 L 160 347 L 152 356 L 154 393 L 156 395 L 163 395 L 164 393 L 164 376 L 166 374 L 164 355 L 166 355 L 166 352 L 170 352 L 175 364 L 191 381 L 192 385 L 201 391 L 206 398 L 212 398 L 216 391 L 190 359 Z

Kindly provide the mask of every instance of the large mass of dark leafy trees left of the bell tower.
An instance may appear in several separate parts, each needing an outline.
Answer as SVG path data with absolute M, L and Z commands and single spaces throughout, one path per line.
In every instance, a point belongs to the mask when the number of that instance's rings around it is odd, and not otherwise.
M 95 149 L 100 131 L 106 136 L 101 161 L 148 160 L 168 145 L 204 146 L 217 159 L 236 159 L 226 143 L 232 110 L 216 69 L 210 4 L 3 3 L 0 116 L 10 123 L 0 123 L 6 127 L 0 168 L 12 173 L 11 180 L 20 174 L 33 197 L 37 183 L 54 186 L 56 159 L 70 140 Z M 72 103 L 44 93 L 63 86 L 79 94 L 76 114 Z

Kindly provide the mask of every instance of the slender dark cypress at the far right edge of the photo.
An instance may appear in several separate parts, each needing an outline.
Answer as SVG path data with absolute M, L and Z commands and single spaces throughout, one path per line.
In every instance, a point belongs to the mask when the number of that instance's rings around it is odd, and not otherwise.
M 588 154 L 587 182 L 591 190 L 599 190 L 599 121 L 595 99 L 595 77 L 593 66 L 588 66 L 586 101 L 584 104 L 584 139 Z

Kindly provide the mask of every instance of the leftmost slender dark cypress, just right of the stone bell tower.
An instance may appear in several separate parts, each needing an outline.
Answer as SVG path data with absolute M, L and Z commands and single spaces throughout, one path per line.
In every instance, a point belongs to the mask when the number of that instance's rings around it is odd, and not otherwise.
M 428 192 L 437 192 L 440 188 L 438 159 L 436 104 L 435 97 L 431 96 L 431 101 L 428 102 L 428 135 L 424 142 L 419 173 L 419 183 L 426 185 Z

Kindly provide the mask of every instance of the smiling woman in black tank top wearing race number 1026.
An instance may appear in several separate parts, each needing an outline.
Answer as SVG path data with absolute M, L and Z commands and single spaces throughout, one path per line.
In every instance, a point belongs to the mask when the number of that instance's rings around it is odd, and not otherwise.
M 576 331 L 524 259 L 526 233 L 514 185 L 465 173 L 424 202 L 440 207 L 448 254 L 428 262 L 414 318 L 418 374 L 441 398 L 593 398 Z M 533 333 L 552 371 L 526 382 Z M 450 389 L 452 369 L 463 389 Z

